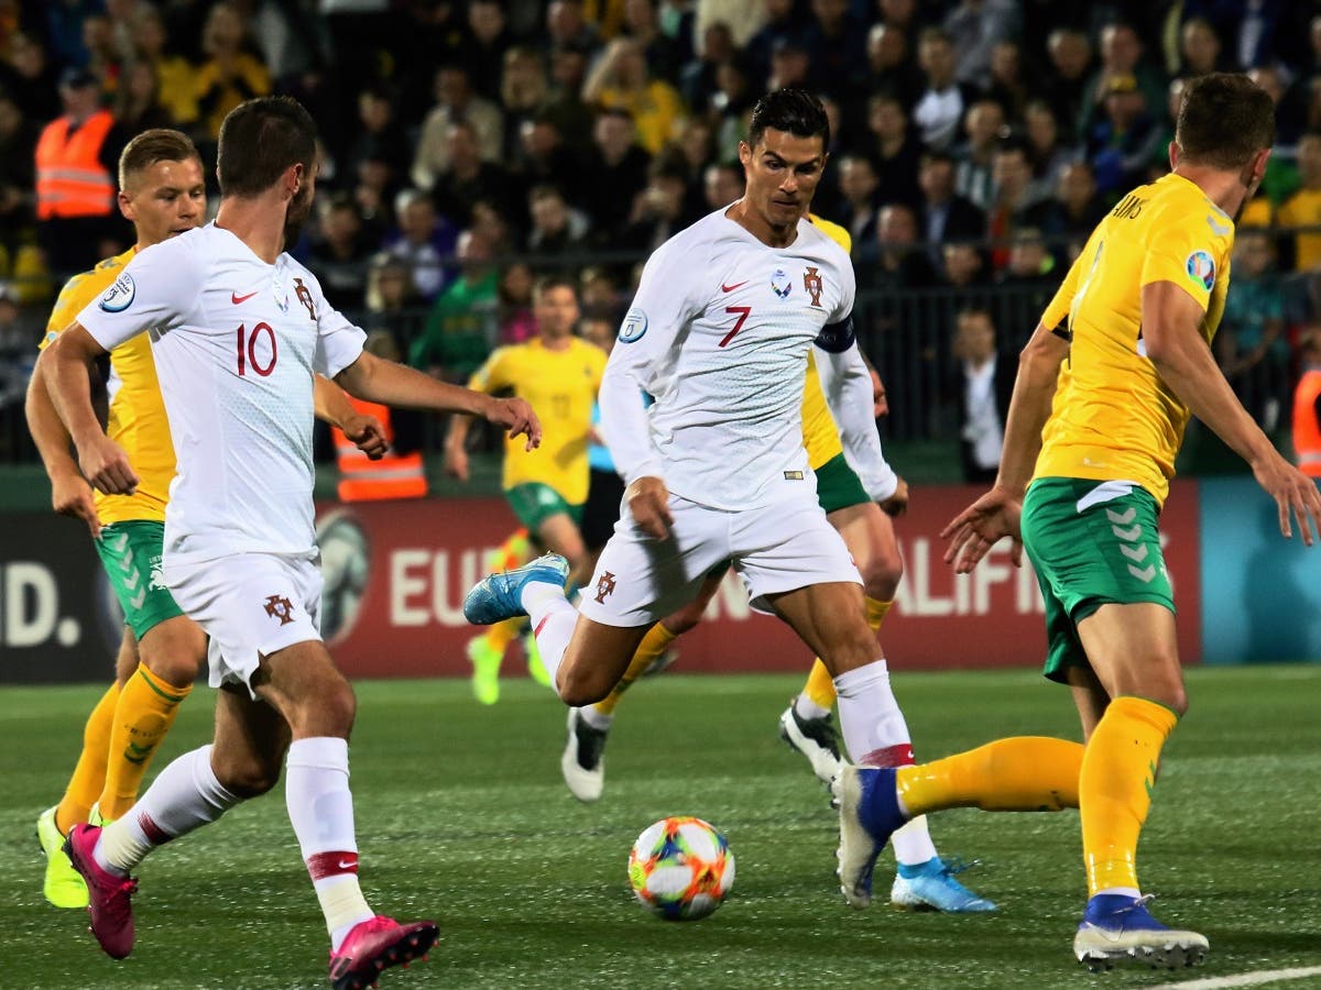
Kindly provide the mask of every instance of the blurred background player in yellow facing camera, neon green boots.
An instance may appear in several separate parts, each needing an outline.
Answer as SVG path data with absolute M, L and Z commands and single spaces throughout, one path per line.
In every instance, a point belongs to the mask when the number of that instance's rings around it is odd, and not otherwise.
M 502 487 L 522 527 L 506 541 L 505 552 L 517 554 L 514 546 L 519 543 L 526 546 L 530 535 L 542 552 L 553 550 L 569 561 L 569 579 L 576 583 L 585 579 L 589 568 L 579 524 L 588 492 L 592 405 L 601 388 L 606 354 L 573 335 L 579 305 L 577 289 L 569 280 L 542 279 L 532 292 L 532 317 L 538 335 L 494 351 L 473 375 L 469 388 L 487 395 L 509 391 L 539 411 L 540 447 L 526 451 L 519 442 L 506 442 Z M 469 425 L 469 417 L 454 416 L 445 438 L 445 470 L 460 480 L 468 480 L 464 445 Z M 505 566 L 499 569 L 524 560 L 502 561 Z M 469 642 L 473 693 L 482 704 L 499 700 L 505 649 L 526 624 L 522 619 L 502 622 Z M 550 684 L 531 648 L 528 668 L 543 684 Z

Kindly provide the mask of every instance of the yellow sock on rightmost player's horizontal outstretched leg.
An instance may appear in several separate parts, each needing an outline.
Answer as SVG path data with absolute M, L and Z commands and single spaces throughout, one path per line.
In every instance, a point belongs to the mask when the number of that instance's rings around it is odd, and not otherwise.
M 900 767 L 896 785 L 914 817 L 942 808 L 1057 812 L 1078 807 L 1082 759 L 1082 743 L 1016 735 L 941 760 Z

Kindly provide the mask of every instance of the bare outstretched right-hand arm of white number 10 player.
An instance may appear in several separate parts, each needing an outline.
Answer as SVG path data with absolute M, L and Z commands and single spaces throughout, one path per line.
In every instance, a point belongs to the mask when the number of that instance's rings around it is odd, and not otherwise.
M 423 412 L 454 412 L 481 416 L 507 430 L 527 436 L 527 449 L 542 442 L 542 424 L 522 399 L 494 399 L 470 388 L 440 381 L 415 368 L 363 351 L 334 379 L 349 395 L 371 403 Z

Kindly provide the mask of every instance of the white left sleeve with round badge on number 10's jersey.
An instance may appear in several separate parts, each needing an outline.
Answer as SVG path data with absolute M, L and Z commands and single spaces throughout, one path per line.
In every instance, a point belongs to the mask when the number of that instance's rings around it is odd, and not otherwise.
M 197 305 L 206 268 L 178 238 L 137 252 L 78 322 L 107 351 L 144 330 L 172 330 Z

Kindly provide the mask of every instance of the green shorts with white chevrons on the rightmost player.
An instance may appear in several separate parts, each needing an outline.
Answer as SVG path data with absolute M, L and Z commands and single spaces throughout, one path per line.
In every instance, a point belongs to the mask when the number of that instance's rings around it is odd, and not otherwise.
M 1046 677 L 1067 684 L 1066 668 L 1087 665 L 1078 623 L 1100 606 L 1174 611 L 1159 515 L 1151 492 L 1127 482 L 1041 478 L 1028 488 L 1022 545 L 1046 599 Z

